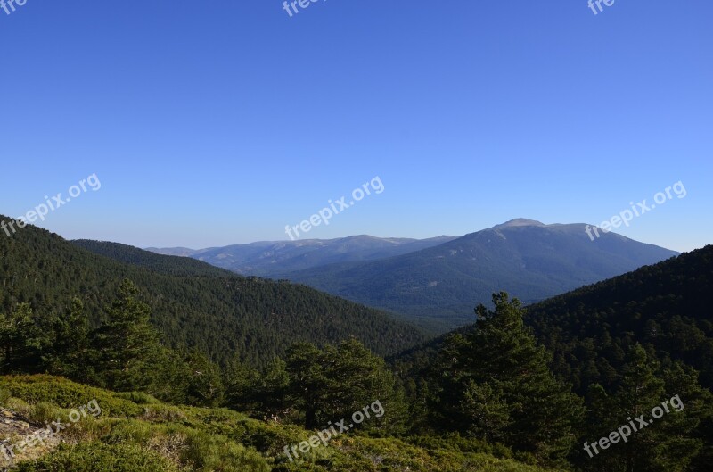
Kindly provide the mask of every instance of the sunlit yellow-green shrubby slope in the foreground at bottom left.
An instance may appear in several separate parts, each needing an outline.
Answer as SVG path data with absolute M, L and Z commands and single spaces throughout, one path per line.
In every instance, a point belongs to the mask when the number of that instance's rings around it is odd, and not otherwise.
M 341 435 L 306 462 L 289 462 L 285 445 L 314 433 L 261 422 L 225 409 L 169 406 L 141 393 L 111 393 L 61 377 L 0 377 L 0 406 L 34 426 L 96 399 L 98 418 L 61 433 L 63 443 L 18 456 L 13 472 L 538 472 L 541 468 L 496 458 L 463 441 Z M 65 422 L 66 419 L 62 419 Z M 66 421 L 69 423 L 69 421 Z M 0 441 L 4 440 L 0 437 Z M 14 441 L 18 441 L 14 438 Z M 415 444 L 419 444 L 418 446 Z M 463 445 L 466 444 L 466 445 Z M 471 444 L 472 446 L 472 444 Z M 500 455 L 506 456 L 507 451 Z M 2 458 L 2 455 L 0 455 Z M 28 459 L 29 458 L 29 459 Z M 3 462 L 0 459 L 0 470 Z

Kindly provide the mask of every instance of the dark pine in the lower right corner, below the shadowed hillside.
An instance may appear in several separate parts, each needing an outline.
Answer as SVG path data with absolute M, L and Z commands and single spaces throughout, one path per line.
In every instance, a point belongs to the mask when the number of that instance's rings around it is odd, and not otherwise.
M 663 377 L 670 378 L 668 386 Z M 663 371 L 653 355 L 635 344 L 627 353 L 616 392 L 607 395 L 599 385 L 590 391 L 594 395 L 588 399 L 588 423 L 594 426 L 589 433 L 593 441 L 617 431 L 619 426 L 633 424 L 636 429 L 626 442 L 619 440 L 594 458 L 584 459 L 586 470 L 683 472 L 701 450 L 701 441 L 692 432 L 701 416 L 706 416 L 704 405 L 709 402 L 709 393 L 698 386 L 697 373 L 686 372 L 678 364 Z M 667 405 L 668 411 L 661 410 L 660 418 L 652 418 L 652 409 L 661 408 L 662 402 L 675 395 L 683 402 L 682 409 Z M 643 418 L 646 425 L 636 418 Z

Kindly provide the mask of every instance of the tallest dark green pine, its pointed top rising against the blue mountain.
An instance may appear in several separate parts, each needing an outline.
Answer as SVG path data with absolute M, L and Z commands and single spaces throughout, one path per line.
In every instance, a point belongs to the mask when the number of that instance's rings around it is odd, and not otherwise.
M 520 302 L 500 293 L 493 304 L 492 311 L 479 305 L 476 327 L 449 338 L 440 353 L 438 413 L 463 434 L 563 464 L 581 401 L 553 376 L 552 357 L 525 327 Z

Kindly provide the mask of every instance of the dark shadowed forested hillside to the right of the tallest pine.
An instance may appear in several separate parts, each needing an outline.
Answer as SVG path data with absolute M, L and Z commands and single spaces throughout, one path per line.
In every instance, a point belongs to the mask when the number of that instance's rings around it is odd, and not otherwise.
M 713 245 L 528 308 L 528 323 L 556 355 L 554 365 L 582 392 L 613 385 L 624 350 L 652 346 L 681 360 L 713 388 Z

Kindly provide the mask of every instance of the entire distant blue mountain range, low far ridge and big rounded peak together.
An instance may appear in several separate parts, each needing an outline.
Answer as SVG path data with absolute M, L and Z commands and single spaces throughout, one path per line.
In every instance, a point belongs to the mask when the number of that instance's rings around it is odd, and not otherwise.
M 600 235 L 587 236 L 585 224 L 512 219 L 461 237 L 421 241 L 352 236 L 153 251 L 241 273 L 256 268 L 444 331 L 471 322 L 473 307 L 501 290 L 537 302 L 678 254 L 611 232 Z

